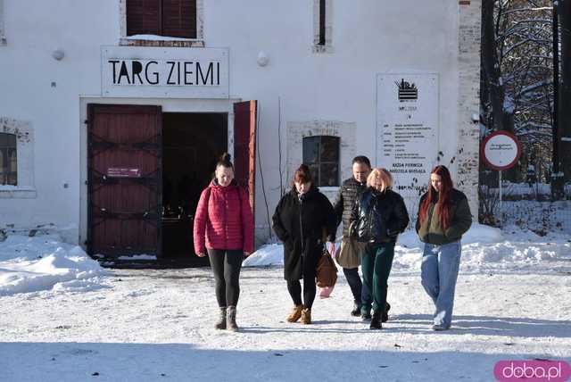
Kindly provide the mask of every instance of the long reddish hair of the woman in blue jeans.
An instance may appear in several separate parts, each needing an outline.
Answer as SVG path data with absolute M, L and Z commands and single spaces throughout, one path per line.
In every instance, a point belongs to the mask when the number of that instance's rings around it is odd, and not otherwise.
M 451 191 L 453 185 L 450 171 L 446 168 L 446 166 L 439 165 L 430 171 L 430 175 L 432 174 L 439 175 L 442 179 L 442 190 L 440 192 L 436 191 L 434 187 L 432 187 L 432 182 L 428 180 L 428 193 L 425 200 L 422 202 L 422 204 L 420 204 L 420 208 L 418 209 L 418 219 L 422 223 L 428 218 L 428 209 L 430 208 L 430 203 L 432 203 L 436 198 L 436 195 L 438 195 L 438 201 L 436 202 L 435 209 L 438 213 L 438 216 L 440 217 L 440 226 L 443 229 L 448 229 L 452 220 Z

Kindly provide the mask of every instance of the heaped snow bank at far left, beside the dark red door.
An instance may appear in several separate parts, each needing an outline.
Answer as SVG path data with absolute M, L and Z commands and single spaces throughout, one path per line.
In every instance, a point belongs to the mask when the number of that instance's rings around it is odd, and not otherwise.
M 105 274 L 79 246 L 56 235 L 11 235 L 0 243 L 0 295 L 94 290 Z

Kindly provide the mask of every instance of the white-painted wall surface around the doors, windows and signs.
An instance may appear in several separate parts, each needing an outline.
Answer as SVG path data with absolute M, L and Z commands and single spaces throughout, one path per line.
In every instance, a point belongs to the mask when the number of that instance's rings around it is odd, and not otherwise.
M 231 97 L 260 102 L 258 172 L 264 173 L 270 216 L 279 196 L 278 97 L 284 154 L 287 122 L 338 120 L 355 125 L 354 154 L 374 160 L 376 73 L 436 72 L 440 142 L 446 152 L 458 147 L 458 3 L 332 4 L 332 52 L 314 54 L 310 1 L 204 2 L 205 46 L 230 48 Z M 37 197 L 0 199 L 0 225 L 54 222 L 79 227 L 85 188 L 81 186 L 85 153 L 80 145 L 85 101 L 81 100 L 100 96 L 100 46 L 118 45 L 120 22 L 119 0 L 4 2 L 7 44 L 0 46 L 0 117 L 26 120 L 34 128 Z M 62 61 L 52 58 L 55 49 L 64 51 Z M 266 67 L 256 63 L 260 51 L 269 55 Z M 156 101 L 165 103 L 176 101 Z M 284 172 L 285 164 L 284 156 Z M 267 220 L 260 176 L 256 200 L 256 222 L 261 226 Z M 74 236 L 77 240 L 77 231 L 71 239 Z

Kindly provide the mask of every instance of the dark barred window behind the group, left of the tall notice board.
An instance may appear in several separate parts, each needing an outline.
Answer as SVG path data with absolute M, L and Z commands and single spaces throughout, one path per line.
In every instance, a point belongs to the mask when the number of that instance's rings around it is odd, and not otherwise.
M 304 137 L 303 163 L 309 166 L 317 186 L 339 186 L 339 137 Z

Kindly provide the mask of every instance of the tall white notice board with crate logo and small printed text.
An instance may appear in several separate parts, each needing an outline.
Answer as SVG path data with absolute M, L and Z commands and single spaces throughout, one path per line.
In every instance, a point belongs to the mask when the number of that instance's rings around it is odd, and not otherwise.
M 438 75 L 377 74 L 377 165 L 409 212 L 428 185 L 438 154 Z

